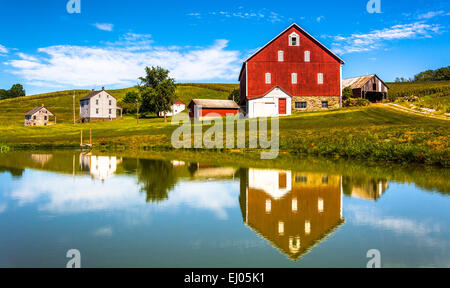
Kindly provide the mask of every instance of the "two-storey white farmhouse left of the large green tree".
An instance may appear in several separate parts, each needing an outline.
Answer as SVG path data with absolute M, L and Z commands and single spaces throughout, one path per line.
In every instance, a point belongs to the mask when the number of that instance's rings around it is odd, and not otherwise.
M 105 91 L 103 87 L 100 91 L 92 92 L 80 99 L 80 122 L 91 122 L 98 120 L 113 120 L 117 118 L 117 99 Z

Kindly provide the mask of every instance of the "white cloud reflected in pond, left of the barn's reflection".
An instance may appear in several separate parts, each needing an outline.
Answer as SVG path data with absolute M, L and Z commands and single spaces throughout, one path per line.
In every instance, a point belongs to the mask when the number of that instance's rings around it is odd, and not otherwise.
M 47 179 L 45 183 L 33 181 L 44 178 Z M 239 193 L 239 182 L 235 181 L 180 180 L 169 193 L 168 200 L 151 205 L 146 203 L 145 193 L 140 192 L 134 177 L 115 175 L 100 182 L 93 181 L 89 176 L 77 176 L 74 185 L 72 176 L 31 170 L 23 175 L 21 182 L 14 186 L 9 196 L 21 207 L 36 204 L 39 211 L 57 214 L 137 211 L 140 208 L 176 212 L 189 208 L 209 211 L 219 219 L 227 219 L 227 210 L 238 206 L 236 199 Z M 94 235 L 103 237 L 112 233 L 110 227 L 101 227 L 93 232 Z

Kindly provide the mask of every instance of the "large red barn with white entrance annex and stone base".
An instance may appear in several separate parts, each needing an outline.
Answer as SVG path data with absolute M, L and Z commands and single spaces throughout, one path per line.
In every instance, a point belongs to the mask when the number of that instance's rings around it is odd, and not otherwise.
M 292 24 L 244 62 L 240 105 L 249 118 L 339 108 L 344 64 Z

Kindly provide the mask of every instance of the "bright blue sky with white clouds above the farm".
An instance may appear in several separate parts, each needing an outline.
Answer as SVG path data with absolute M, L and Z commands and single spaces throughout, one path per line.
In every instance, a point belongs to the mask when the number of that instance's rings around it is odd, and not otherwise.
M 129 87 L 145 66 L 178 82 L 236 83 L 242 61 L 293 22 L 346 61 L 344 77 L 412 77 L 450 63 L 450 3 L 0 0 L 0 88 Z

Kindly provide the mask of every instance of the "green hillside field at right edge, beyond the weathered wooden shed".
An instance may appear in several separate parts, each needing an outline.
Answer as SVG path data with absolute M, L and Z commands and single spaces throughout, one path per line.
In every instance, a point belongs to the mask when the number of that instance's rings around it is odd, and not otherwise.
M 428 108 L 438 114 L 450 113 L 450 81 L 388 83 L 391 99 L 405 106 Z M 417 102 L 407 102 L 405 96 L 416 96 Z

